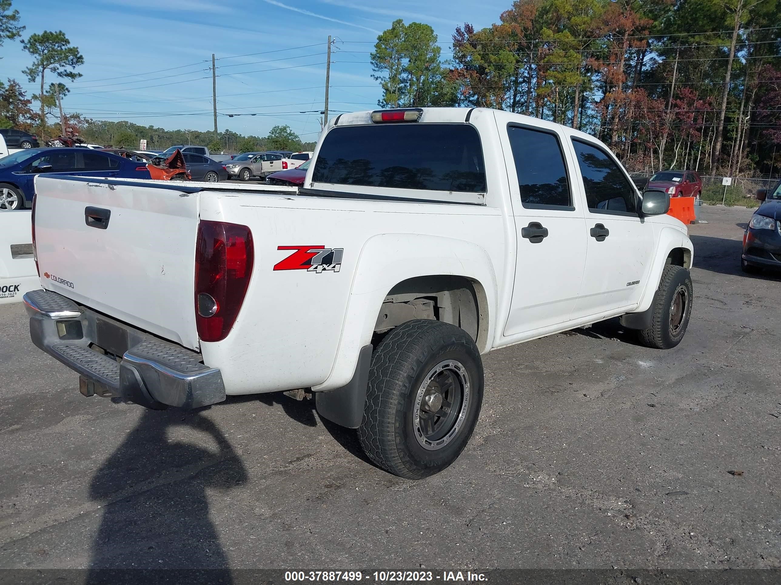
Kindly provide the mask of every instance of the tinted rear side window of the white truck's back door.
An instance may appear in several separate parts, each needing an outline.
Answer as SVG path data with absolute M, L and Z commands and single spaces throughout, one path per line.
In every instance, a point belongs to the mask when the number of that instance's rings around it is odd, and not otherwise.
M 547 132 L 508 126 L 523 207 L 573 209 L 562 148 Z

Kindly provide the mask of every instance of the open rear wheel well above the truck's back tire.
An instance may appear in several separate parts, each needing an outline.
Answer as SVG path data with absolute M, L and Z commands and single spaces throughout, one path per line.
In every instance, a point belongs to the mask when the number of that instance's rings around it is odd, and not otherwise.
M 463 276 L 431 275 L 399 282 L 383 300 L 375 335 L 413 319 L 454 324 L 484 347 L 487 342 L 487 298 L 480 282 Z

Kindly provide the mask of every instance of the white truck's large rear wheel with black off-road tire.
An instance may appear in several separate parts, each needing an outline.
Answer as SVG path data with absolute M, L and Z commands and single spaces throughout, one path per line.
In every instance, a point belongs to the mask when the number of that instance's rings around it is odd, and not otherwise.
M 358 438 L 377 466 L 422 479 L 458 458 L 482 403 L 483 363 L 469 334 L 407 321 L 374 350 Z

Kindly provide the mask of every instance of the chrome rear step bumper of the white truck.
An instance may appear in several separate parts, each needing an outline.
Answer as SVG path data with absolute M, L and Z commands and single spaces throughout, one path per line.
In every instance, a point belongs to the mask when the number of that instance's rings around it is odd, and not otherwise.
M 80 374 L 80 391 L 119 396 L 155 410 L 198 408 L 225 399 L 219 370 L 201 355 L 80 307 L 47 290 L 23 297 L 30 338 Z

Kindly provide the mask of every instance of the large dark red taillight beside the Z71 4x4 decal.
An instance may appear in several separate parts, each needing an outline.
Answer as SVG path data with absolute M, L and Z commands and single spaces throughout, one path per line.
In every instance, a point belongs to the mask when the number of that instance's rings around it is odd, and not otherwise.
M 195 323 L 202 341 L 222 341 L 230 333 L 244 303 L 253 260 L 252 232 L 246 225 L 223 222 L 198 225 Z

